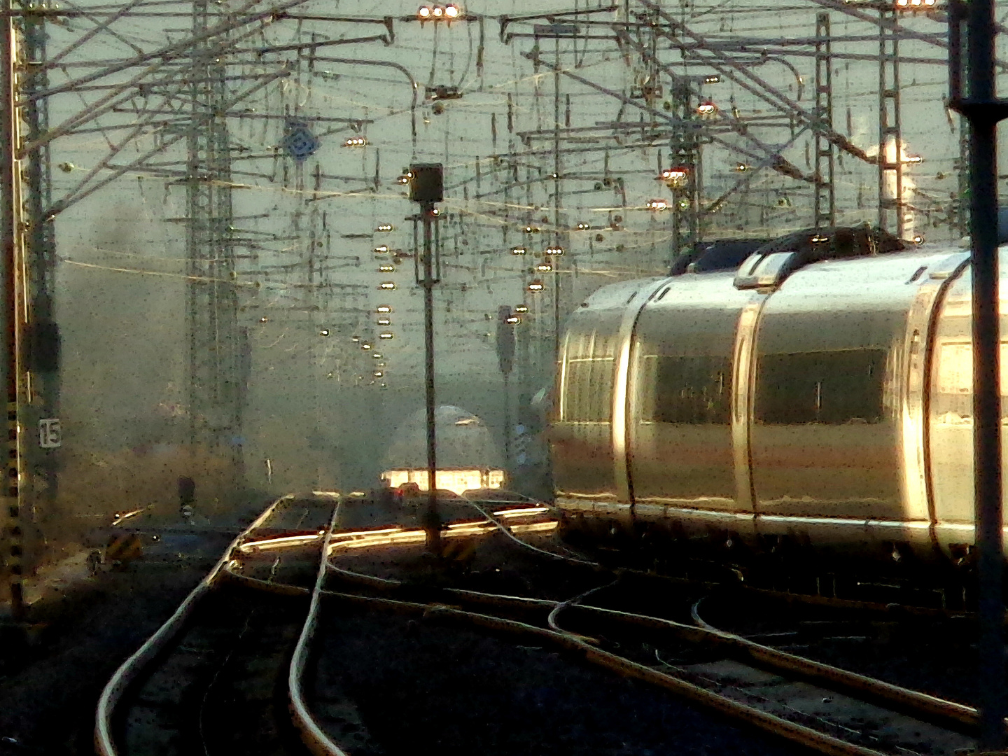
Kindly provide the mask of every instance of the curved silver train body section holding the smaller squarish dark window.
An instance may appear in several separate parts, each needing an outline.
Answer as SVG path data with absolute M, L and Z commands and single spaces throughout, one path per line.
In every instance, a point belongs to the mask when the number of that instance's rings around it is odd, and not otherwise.
M 725 275 L 684 275 L 637 319 L 627 464 L 638 521 L 668 519 L 701 533 L 735 529 L 732 363 L 749 296 Z

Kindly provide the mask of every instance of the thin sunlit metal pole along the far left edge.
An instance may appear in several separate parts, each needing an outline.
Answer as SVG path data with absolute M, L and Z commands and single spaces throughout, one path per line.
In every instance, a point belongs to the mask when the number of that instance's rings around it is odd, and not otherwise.
M 9 4 L 4 3 L 9 9 Z M 5 477 L 7 483 L 0 496 L 3 497 L 3 557 L 6 580 L 10 595 L 11 615 L 15 621 L 24 618 L 23 594 L 23 546 L 25 524 L 21 516 L 20 445 L 18 428 L 18 317 L 17 317 L 17 227 L 20 218 L 19 179 L 15 151 L 17 149 L 17 113 L 14 81 L 15 35 L 13 18 L 0 20 L 0 97 L 3 98 L 3 115 L 0 116 L 0 238 L 3 249 L 0 252 L 0 280 L 2 280 L 2 374 L 4 399 L 7 409 L 8 460 Z

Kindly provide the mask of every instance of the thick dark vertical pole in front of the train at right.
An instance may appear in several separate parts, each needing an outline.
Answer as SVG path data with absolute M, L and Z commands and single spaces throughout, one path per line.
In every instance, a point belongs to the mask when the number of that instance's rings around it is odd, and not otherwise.
M 980 551 L 978 704 L 980 751 L 1005 742 L 1001 392 L 999 385 L 997 122 L 994 2 L 971 0 L 968 20 L 970 235 L 973 271 L 973 443 Z

